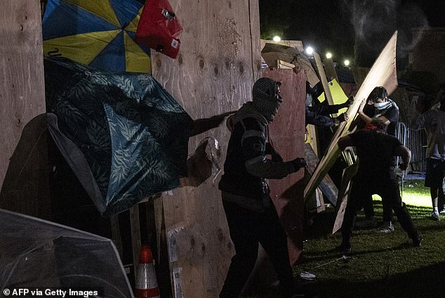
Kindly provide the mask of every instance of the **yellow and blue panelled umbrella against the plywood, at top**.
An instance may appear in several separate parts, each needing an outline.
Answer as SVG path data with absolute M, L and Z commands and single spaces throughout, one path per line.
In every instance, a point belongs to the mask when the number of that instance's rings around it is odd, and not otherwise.
M 150 49 L 134 41 L 142 8 L 135 0 L 48 0 L 44 55 L 109 72 L 151 73 Z

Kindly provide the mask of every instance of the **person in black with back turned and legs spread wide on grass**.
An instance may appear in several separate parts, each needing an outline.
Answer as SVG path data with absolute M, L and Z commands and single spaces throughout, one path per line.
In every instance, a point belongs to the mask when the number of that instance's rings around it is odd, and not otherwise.
M 405 170 L 411 161 L 411 151 L 396 137 L 385 133 L 385 123 L 373 119 L 366 128 L 341 137 L 340 149 L 354 146 L 359 158 L 359 169 L 352 178 L 352 188 L 347 201 L 341 233 L 343 241 L 338 250 L 351 249 L 350 239 L 357 212 L 363 208 L 364 198 L 378 194 L 397 215 L 401 227 L 413 240 L 413 246 L 420 246 L 422 236 L 414 226 L 406 205 L 401 201 L 399 183 L 394 172 L 393 156 L 401 156 L 401 169 Z

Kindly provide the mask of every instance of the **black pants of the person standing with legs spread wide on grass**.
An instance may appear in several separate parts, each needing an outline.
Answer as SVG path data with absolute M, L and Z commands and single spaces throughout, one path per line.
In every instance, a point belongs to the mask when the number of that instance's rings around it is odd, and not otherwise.
M 401 201 L 399 182 L 397 182 L 395 175 L 394 177 L 376 181 L 371 181 L 366 179 L 366 177 L 356 176 L 352 181 L 352 189 L 347 199 L 345 216 L 343 217 L 341 228 L 343 243 L 350 243 L 357 212 L 363 208 L 364 198 L 373 194 L 378 194 L 382 197 L 383 202 L 391 206 L 397 219 L 399 219 L 401 227 L 408 233 L 411 239 L 418 236 L 418 231 L 406 209 L 406 205 Z

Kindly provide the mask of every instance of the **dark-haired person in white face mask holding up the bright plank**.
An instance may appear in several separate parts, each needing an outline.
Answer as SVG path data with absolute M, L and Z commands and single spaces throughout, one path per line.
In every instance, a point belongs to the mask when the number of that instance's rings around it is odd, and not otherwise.
M 368 123 L 371 123 L 373 119 L 379 119 L 385 125 L 387 133 L 395 136 L 397 121 L 399 121 L 399 107 L 388 97 L 387 90 L 383 86 L 378 86 L 371 91 L 366 101 L 361 104 L 358 113 L 361 119 L 358 128 L 363 128 Z M 372 196 L 365 198 L 364 202 L 366 220 L 361 226 L 375 226 L 376 220 L 374 219 L 375 212 Z M 383 225 L 380 227 L 380 231 L 383 233 L 394 231 L 393 221 L 391 207 L 384 204 Z

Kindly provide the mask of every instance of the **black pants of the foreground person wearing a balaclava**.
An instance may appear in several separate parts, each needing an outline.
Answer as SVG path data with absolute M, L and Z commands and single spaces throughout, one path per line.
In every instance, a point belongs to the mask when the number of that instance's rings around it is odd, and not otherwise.
M 272 202 L 264 212 L 251 211 L 224 200 L 223 205 L 236 254 L 232 257 L 220 298 L 239 297 L 255 265 L 258 243 L 270 257 L 282 296 L 287 298 L 295 294 L 287 237 Z

